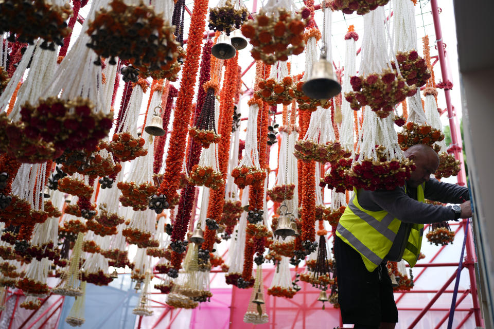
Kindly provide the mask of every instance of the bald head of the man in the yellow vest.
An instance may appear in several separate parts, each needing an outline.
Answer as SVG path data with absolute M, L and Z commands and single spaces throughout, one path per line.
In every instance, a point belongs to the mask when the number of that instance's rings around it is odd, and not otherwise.
M 437 153 L 425 144 L 413 145 L 404 152 L 404 155 L 410 160 L 413 160 L 416 167 L 408 180 L 408 184 L 411 187 L 417 187 L 423 182 L 428 181 L 431 174 L 435 173 L 439 166 Z

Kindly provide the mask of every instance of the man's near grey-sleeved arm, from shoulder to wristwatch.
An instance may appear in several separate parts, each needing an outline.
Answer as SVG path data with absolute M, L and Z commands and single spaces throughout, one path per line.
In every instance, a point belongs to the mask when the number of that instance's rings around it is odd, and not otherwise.
M 404 223 L 430 224 L 455 219 L 455 213 L 450 207 L 418 202 L 408 196 L 403 188 L 397 188 L 394 191 L 374 191 L 368 196 L 379 208 Z

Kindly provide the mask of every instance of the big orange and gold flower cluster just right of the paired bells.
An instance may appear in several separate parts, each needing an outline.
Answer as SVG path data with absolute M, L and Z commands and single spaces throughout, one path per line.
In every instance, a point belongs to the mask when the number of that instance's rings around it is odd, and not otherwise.
M 252 57 L 266 64 L 276 61 L 288 61 L 288 56 L 298 55 L 304 51 L 304 29 L 309 22 L 310 10 L 303 8 L 292 16 L 284 8 L 276 14 L 269 14 L 263 9 L 256 20 L 249 20 L 241 27 L 245 38 L 253 46 Z

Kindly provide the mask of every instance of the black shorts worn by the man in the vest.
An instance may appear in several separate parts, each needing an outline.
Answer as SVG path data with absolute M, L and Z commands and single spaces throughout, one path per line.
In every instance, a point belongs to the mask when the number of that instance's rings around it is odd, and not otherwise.
M 398 322 L 386 262 L 381 263 L 381 269 L 369 272 L 360 254 L 338 236 L 334 240 L 334 258 L 343 323 L 378 327 L 381 322 Z

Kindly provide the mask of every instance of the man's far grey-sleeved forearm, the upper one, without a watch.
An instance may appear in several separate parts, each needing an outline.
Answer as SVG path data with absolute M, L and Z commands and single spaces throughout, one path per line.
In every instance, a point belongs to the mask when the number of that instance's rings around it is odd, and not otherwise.
M 426 181 L 424 196 L 426 199 L 444 204 L 461 204 L 470 200 L 468 188 L 438 181 L 435 178 Z

